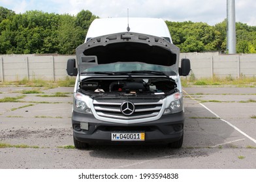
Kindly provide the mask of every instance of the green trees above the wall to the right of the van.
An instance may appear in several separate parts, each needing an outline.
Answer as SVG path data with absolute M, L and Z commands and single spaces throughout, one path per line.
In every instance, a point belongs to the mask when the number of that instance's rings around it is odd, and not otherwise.
M 172 41 L 181 52 L 222 51 L 227 49 L 227 20 L 214 26 L 191 21 L 166 21 Z M 236 23 L 237 53 L 256 53 L 256 27 Z

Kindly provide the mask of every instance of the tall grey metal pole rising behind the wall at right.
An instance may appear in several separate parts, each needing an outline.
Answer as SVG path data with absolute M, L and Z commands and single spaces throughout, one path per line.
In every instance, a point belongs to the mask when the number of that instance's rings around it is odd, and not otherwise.
M 236 53 L 236 16 L 234 0 L 227 0 L 227 49 L 229 54 Z

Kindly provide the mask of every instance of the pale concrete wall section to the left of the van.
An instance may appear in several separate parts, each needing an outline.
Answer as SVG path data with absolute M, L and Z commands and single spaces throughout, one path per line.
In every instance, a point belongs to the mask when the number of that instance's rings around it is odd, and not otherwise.
M 0 55 L 0 81 L 63 79 L 67 76 L 67 60 L 71 58 L 75 56 Z

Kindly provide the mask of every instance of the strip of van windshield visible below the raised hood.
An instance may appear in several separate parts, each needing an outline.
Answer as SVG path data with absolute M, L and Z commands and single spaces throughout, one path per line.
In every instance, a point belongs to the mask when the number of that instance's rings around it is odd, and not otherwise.
M 90 68 L 81 68 L 80 72 L 134 72 L 145 70 L 153 72 L 163 72 L 166 75 L 176 75 L 176 73 L 172 70 L 172 66 L 146 64 L 143 62 L 114 62 L 110 64 L 97 64 Z

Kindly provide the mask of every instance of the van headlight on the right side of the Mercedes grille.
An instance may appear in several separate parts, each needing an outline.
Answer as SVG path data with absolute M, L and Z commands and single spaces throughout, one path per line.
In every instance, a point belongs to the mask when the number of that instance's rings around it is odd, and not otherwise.
M 170 104 L 165 109 L 165 112 L 163 114 L 174 114 L 182 111 L 182 95 L 180 93 L 169 96 L 167 102 Z

